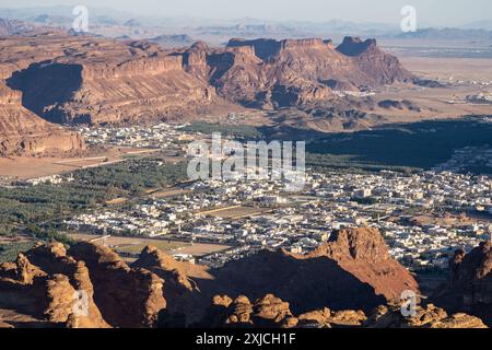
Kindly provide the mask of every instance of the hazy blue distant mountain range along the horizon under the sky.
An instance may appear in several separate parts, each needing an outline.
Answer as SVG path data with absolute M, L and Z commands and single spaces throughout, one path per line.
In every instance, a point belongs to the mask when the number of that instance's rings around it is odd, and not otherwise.
M 39 7 L 23 9 L 0 8 L 0 18 L 9 20 L 20 20 L 32 22 L 38 25 L 52 25 L 70 27 L 73 21 L 73 7 Z M 120 10 L 107 8 L 90 8 L 90 23 L 97 27 L 131 27 L 131 28 L 155 28 L 161 30 L 161 34 L 188 34 L 191 36 L 268 36 L 268 37 L 313 37 L 313 36 L 344 36 L 359 35 L 384 37 L 393 36 L 399 38 L 421 38 L 421 39 L 453 39 L 454 37 L 475 37 L 476 39 L 490 38 L 492 31 L 492 20 L 476 21 L 466 24 L 457 24 L 449 28 L 434 27 L 431 24 L 421 24 L 424 27 L 417 33 L 402 34 L 398 23 L 377 22 L 352 22 L 345 20 L 329 20 L 326 22 L 309 21 L 266 21 L 253 18 L 242 19 L 199 19 L 199 18 L 166 18 L 136 15 Z M 128 33 L 116 33 L 108 36 L 130 35 Z M 165 33 L 164 33 L 165 32 Z M 171 33 L 172 32 L 172 33 Z M 108 31 L 108 33 L 113 33 Z M 97 33 L 106 35 L 104 32 Z M 194 35 L 195 34 L 195 35 Z M 157 36 L 154 35 L 154 36 Z M 141 37 L 140 37 L 141 38 Z M 199 37 L 200 38 L 200 37 Z

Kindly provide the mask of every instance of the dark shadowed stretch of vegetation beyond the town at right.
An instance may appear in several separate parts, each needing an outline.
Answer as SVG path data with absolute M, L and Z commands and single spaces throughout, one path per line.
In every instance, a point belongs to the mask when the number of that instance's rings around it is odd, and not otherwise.
M 412 172 L 448 161 L 455 150 L 492 143 L 483 118 L 388 125 L 352 133 L 331 133 L 306 145 L 313 167 Z

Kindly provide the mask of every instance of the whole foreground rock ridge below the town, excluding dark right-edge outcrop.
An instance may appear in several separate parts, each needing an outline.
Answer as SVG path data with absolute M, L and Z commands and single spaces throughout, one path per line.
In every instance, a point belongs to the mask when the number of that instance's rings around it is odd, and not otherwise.
M 0 264 L 0 308 L 45 327 L 485 327 L 432 304 L 402 316 L 395 285 L 412 279 L 401 270 L 390 277 L 401 282 L 376 292 L 393 261 L 382 242 L 376 231 L 340 231 L 311 256 L 263 253 L 215 270 L 154 247 L 128 266 L 99 245 L 37 245 Z M 16 325 L 2 315 L 0 327 Z

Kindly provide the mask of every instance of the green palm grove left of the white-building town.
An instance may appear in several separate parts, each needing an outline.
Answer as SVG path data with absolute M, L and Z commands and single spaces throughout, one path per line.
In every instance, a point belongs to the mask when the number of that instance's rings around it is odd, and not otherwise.
M 73 173 L 61 185 L 0 188 L 0 235 L 24 231 L 46 241 L 70 243 L 57 233 L 58 223 L 75 213 L 94 210 L 120 197 L 138 197 L 150 188 L 174 185 L 186 178 L 186 164 L 159 158 L 126 162 Z

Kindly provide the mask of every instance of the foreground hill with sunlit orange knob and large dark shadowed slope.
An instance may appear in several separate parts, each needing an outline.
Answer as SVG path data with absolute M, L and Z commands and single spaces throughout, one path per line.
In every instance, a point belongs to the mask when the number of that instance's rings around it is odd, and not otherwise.
M 213 280 L 198 281 L 209 300 L 221 293 L 251 299 L 272 293 L 289 301 L 296 314 L 326 305 L 370 312 L 399 300 L 406 290 L 418 291 L 414 278 L 389 257 L 383 237 L 373 229 L 335 232 L 326 245 L 308 255 L 260 252 L 209 273 Z

